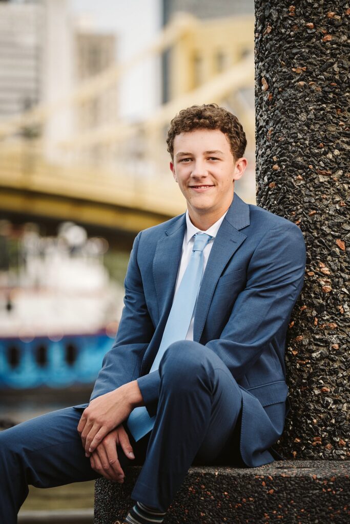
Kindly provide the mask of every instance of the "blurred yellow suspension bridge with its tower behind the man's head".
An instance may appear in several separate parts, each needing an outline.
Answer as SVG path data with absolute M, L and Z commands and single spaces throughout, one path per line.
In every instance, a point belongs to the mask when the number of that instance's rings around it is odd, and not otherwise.
M 253 106 L 244 96 L 254 82 L 253 24 L 251 16 L 177 16 L 133 60 L 113 64 L 69 96 L 0 123 L 0 208 L 125 231 L 183 212 L 184 199 L 168 168 L 166 128 L 182 108 L 217 102 L 239 117 L 254 144 Z M 80 126 L 58 141 L 46 133 L 57 115 L 89 111 L 135 64 L 165 51 L 171 99 L 151 117 Z M 32 129 L 40 129 L 39 136 L 30 138 Z M 253 146 L 250 151 L 253 177 Z

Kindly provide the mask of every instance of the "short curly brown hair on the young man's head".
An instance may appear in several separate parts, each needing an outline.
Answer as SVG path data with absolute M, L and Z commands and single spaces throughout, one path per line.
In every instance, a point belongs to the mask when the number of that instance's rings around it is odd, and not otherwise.
M 234 159 L 244 155 L 247 139 L 237 116 L 218 104 L 203 104 L 187 107 L 172 119 L 166 138 L 167 150 L 172 159 L 175 136 L 194 129 L 220 129 L 228 138 Z

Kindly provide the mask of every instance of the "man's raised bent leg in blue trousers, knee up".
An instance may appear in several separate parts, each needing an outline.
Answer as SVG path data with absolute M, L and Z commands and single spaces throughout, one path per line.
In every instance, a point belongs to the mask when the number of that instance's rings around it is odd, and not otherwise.
M 156 421 L 133 499 L 165 511 L 195 460 L 213 463 L 234 434 L 242 394 L 226 365 L 196 342 L 169 346 Z

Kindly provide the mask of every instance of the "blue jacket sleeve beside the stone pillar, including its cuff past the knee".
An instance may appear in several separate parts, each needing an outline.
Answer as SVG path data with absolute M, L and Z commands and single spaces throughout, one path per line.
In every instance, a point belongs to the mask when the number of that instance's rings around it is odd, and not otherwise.
M 250 258 L 246 287 L 239 293 L 220 338 L 206 344 L 236 379 L 247 373 L 281 329 L 287 330 L 304 271 L 305 244 L 299 227 L 283 221 L 269 228 Z M 159 374 L 141 377 L 138 383 L 147 409 L 154 414 Z

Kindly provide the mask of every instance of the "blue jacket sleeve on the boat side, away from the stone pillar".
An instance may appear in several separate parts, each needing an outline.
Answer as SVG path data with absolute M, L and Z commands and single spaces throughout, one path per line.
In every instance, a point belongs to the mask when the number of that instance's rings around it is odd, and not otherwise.
M 137 264 L 141 234 L 135 238 L 126 271 L 124 308 L 118 332 L 111 350 L 103 358 L 90 400 L 140 376 L 142 358 L 154 333 Z

